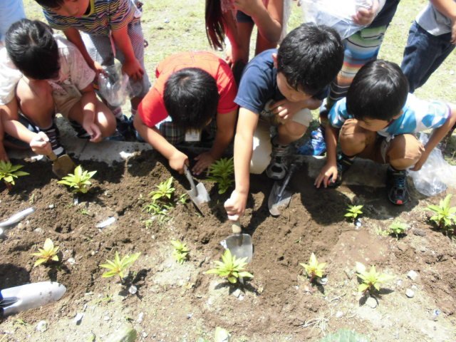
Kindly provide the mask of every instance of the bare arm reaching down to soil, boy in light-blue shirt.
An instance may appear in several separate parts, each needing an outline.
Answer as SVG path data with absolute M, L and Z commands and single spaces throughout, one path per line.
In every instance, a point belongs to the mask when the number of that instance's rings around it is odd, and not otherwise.
M 316 187 L 327 187 L 330 179 L 336 180 L 337 178 L 337 140 L 339 130 L 334 128 L 330 124 L 326 126 L 325 130 L 325 141 L 326 141 L 326 164 L 321 169 L 320 173 L 316 177 L 314 185 Z

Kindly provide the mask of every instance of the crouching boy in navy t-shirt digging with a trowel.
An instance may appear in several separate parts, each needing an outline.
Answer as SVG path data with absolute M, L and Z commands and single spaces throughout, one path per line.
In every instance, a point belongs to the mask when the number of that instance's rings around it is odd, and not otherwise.
M 235 102 L 240 106 L 234 138 L 236 188 L 225 202 L 229 219 L 244 213 L 249 173 L 274 180 L 286 175 L 290 144 L 304 135 L 323 89 L 343 61 L 341 38 L 328 26 L 303 24 L 291 31 L 279 50 L 266 50 L 247 64 Z M 271 139 L 270 126 L 278 134 Z

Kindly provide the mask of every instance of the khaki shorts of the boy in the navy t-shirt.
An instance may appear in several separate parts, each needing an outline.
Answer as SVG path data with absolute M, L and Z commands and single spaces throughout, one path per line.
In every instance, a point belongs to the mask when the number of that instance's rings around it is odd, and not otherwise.
M 266 103 L 265 108 L 269 108 L 271 101 Z M 267 110 L 265 110 L 267 112 Z M 312 120 L 309 109 L 299 110 L 293 117 L 293 122 L 309 127 Z M 259 115 L 257 129 L 254 132 L 253 153 L 250 161 L 250 173 L 260 174 L 271 162 L 271 120 L 264 112 Z

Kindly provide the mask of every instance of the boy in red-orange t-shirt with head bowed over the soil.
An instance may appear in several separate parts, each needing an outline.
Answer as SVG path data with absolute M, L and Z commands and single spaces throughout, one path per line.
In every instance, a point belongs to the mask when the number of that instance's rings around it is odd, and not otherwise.
M 181 173 L 189 160 L 173 145 L 214 135 L 211 150 L 195 157 L 192 171 L 198 175 L 222 156 L 234 135 L 237 86 L 232 71 L 212 53 L 183 52 L 159 63 L 155 76 L 138 107 L 135 128 Z

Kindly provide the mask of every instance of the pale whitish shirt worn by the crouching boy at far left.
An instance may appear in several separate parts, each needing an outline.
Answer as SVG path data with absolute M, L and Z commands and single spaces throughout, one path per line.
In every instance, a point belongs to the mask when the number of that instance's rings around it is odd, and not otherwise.
M 48 81 L 53 95 L 71 95 L 75 90 L 86 88 L 95 78 L 93 71 L 84 60 L 81 52 L 65 38 L 55 36 L 60 56 L 58 80 Z M 16 85 L 23 77 L 8 56 L 6 48 L 0 50 L 0 105 L 13 100 Z

